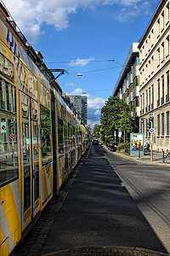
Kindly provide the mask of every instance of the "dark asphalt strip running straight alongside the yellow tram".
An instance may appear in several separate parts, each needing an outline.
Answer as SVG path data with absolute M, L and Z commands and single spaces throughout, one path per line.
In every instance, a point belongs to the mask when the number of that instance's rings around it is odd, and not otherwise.
M 119 159 L 114 158 L 100 146 L 90 148 L 54 218 L 42 254 L 88 246 L 144 247 L 166 252 L 112 168 L 117 167 Z

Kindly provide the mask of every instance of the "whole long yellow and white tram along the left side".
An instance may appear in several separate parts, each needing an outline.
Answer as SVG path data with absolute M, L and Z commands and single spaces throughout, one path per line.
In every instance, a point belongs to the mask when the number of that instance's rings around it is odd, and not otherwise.
M 5 9 L 3 9 L 5 15 Z M 8 15 L 8 14 L 6 14 Z M 5 20 L 5 19 L 4 19 Z M 86 128 L 0 20 L 0 255 L 31 230 L 88 143 Z M 53 99 L 53 101 L 52 101 Z M 51 108 L 51 106 L 54 108 Z

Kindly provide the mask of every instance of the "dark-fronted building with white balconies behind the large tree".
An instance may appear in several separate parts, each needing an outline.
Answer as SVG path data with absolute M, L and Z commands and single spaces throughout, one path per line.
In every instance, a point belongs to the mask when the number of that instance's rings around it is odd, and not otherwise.
M 139 132 L 139 43 L 133 43 L 111 96 L 119 96 L 133 105 L 133 131 Z

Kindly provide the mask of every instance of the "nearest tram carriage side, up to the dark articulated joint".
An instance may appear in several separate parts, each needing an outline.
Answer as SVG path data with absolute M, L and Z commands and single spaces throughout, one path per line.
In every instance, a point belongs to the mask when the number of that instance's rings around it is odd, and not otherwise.
M 42 210 L 52 197 L 52 135 L 43 127 L 46 114 L 41 116 L 40 107 L 50 113 L 48 83 L 1 20 L 0 31 L 0 61 L 8 66 L 8 72 L 0 70 L 4 128 L 0 134 L 0 254 L 8 255 L 40 212 L 40 205 Z M 7 47 L 12 42 L 18 56 Z

